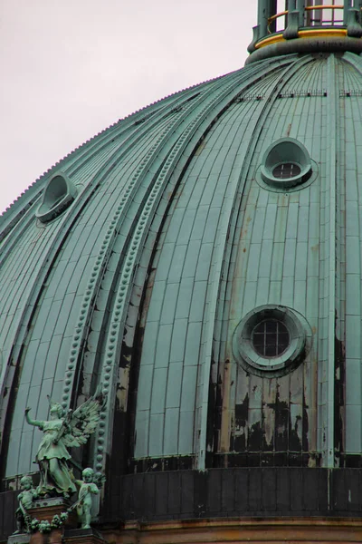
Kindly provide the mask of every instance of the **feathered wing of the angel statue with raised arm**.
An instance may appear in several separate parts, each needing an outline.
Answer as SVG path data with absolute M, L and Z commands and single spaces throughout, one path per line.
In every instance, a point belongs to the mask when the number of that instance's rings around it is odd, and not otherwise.
M 62 443 L 65 447 L 78 447 L 88 441 L 100 421 L 100 411 L 104 403 L 104 395 L 95 393 L 74 412 L 67 413 L 62 428 Z

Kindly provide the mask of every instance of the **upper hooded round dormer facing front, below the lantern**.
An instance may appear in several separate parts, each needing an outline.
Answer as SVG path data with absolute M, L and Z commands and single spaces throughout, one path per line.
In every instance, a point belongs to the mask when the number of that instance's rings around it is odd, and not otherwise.
M 281 138 L 265 151 L 257 178 L 273 189 L 301 189 L 313 170 L 317 169 L 304 145 L 293 138 Z

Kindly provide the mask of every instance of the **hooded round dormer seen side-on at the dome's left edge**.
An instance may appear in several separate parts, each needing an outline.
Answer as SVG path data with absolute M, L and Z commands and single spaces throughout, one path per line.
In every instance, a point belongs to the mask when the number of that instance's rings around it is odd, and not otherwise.
M 35 215 L 42 223 L 48 223 L 61 215 L 76 196 L 77 188 L 72 181 L 63 172 L 57 172 L 46 184 Z

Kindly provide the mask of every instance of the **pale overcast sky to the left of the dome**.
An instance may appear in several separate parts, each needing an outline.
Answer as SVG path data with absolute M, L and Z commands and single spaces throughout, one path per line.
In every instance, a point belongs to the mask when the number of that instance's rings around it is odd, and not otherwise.
M 243 66 L 257 0 L 0 0 L 0 212 L 57 160 Z

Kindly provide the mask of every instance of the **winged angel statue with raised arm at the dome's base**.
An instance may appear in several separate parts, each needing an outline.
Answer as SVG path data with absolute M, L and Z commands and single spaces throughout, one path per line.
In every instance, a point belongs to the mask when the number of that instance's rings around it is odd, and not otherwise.
M 49 397 L 48 397 L 49 398 Z M 50 402 L 50 421 L 33 420 L 26 408 L 27 423 L 39 427 L 43 431 L 43 439 L 39 444 L 35 461 L 39 464 L 39 495 L 61 495 L 68 498 L 76 491 L 72 471 L 68 461 L 71 454 L 68 448 L 85 444 L 100 420 L 100 410 L 104 397 L 100 394 L 91 396 L 76 410 L 65 412 L 59 403 Z

